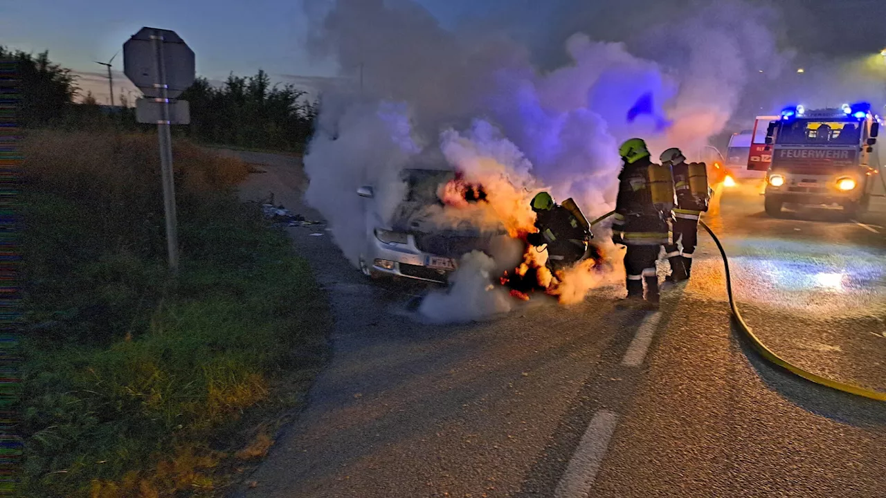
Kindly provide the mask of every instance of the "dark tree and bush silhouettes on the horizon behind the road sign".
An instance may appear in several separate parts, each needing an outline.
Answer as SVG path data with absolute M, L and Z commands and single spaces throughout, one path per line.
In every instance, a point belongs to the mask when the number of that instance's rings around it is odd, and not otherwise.
M 91 92 L 82 105 L 75 105 L 74 97 L 80 90 L 74 84 L 76 76 L 52 63 L 46 51 L 35 58 L 0 46 L 0 58 L 18 63 L 22 126 L 152 128 L 137 124 L 131 109 L 101 113 Z M 317 105 L 307 100 L 307 92 L 293 85 L 271 85 L 270 77 L 261 69 L 248 78 L 229 74 L 220 87 L 198 78 L 179 98 L 190 103 L 190 125 L 175 127 L 176 136 L 210 144 L 301 152 L 314 131 Z M 128 101 L 121 96 L 120 103 L 125 106 Z

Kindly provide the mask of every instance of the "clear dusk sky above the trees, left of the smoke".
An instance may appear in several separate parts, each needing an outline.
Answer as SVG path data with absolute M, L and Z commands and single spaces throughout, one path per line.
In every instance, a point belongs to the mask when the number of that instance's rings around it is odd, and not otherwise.
M 444 24 L 459 19 L 472 0 L 419 0 Z M 498 2 L 487 2 L 496 4 Z M 334 62 L 309 60 L 303 48 L 307 20 L 299 0 L 0 0 L 0 45 L 49 50 L 50 58 L 81 74 L 79 85 L 100 103 L 108 97 L 106 62 L 143 26 L 175 30 L 197 56 L 197 73 L 224 80 L 230 72 L 252 75 L 262 68 L 275 81 L 310 84 L 284 75 L 332 76 Z M 474 9 L 476 11 L 476 9 Z M 133 87 L 113 60 L 114 97 Z M 117 71 L 120 71 L 118 74 Z

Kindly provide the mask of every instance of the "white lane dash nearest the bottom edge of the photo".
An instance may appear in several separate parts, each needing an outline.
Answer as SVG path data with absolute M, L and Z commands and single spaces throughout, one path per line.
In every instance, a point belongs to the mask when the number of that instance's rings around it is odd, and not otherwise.
M 556 485 L 555 498 L 585 498 L 590 493 L 617 422 L 618 415 L 609 410 L 595 414 Z

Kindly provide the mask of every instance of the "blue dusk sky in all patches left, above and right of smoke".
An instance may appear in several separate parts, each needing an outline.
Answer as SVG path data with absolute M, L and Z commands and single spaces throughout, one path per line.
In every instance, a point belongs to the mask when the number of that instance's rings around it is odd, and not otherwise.
M 618 39 L 624 33 L 623 23 L 594 20 L 633 19 L 638 12 L 650 11 L 649 0 L 416 2 L 446 27 L 460 22 L 507 25 L 511 35 L 543 54 L 562 54 L 565 36 L 578 30 L 591 29 L 603 38 Z M 654 4 L 663 9 L 671 5 Z M 777 4 L 788 12 L 782 26 L 790 44 L 800 51 L 806 48 L 832 55 L 879 51 L 884 43 L 875 25 L 886 15 L 886 2 L 781 0 Z M 309 88 L 312 78 L 336 73 L 334 62 L 312 61 L 307 56 L 307 19 L 301 0 L 0 0 L 0 6 L 0 45 L 34 53 L 49 50 L 53 61 L 81 74 L 83 93 L 92 90 L 99 102 L 107 100 L 106 69 L 93 61 L 107 61 L 143 26 L 175 30 L 195 51 L 198 74 L 210 80 L 224 80 L 230 72 L 252 75 L 262 68 L 273 81 Z M 859 12 L 867 14 L 859 17 Z M 853 25 L 854 29 L 844 29 Z M 834 30 L 834 26 L 841 28 Z M 113 65 L 122 71 L 121 55 Z M 115 72 L 114 86 L 115 98 L 121 92 L 135 95 L 122 73 Z

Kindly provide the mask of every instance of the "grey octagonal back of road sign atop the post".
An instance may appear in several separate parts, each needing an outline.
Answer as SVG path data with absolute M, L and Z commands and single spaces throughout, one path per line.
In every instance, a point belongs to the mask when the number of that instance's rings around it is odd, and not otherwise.
M 146 97 L 161 97 L 157 74 L 157 52 L 152 35 L 161 36 L 167 98 L 178 97 L 194 82 L 194 51 L 182 37 L 169 29 L 143 27 L 123 43 L 123 73 Z

